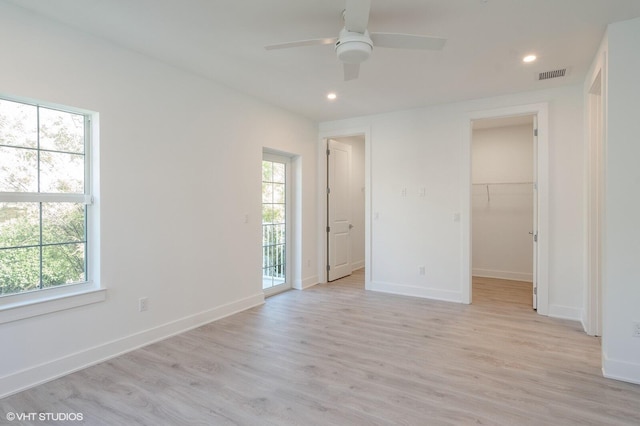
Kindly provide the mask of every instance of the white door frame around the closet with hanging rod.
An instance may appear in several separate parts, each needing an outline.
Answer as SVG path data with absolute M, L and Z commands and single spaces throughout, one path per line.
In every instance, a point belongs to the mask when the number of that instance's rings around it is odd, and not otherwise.
M 538 120 L 538 149 L 537 149 L 537 187 L 538 187 L 538 244 L 536 247 L 537 264 L 534 275 L 538 280 L 537 312 L 540 315 L 549 314 L 549 106 L 545 103 L 519 105 L 498 109 L 480 110 L 467 113 L 464 123 L 461 182 L 462 199 L 460 200 L 462 213 L 462 260 L 461 260 L 461 290 L 462 302 L 472 301 L 472 228 L 471 228 L 471 142 L 473 121 L 481 119 L 495 119 L 518 115 L 535 115 Z M 534 231 L 535 232 L 535 231 Z

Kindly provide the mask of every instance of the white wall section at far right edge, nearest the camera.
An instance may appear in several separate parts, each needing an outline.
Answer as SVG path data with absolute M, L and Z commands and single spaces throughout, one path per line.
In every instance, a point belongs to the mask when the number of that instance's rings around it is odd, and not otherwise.
M 640 384 L 640 18 L 607 35 L 603 371 Z

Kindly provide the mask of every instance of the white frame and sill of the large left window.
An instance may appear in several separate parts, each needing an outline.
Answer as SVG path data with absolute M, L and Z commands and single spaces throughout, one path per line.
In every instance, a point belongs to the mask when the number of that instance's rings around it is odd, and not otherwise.
M 3 100 L 37 107 L 51 108 L 85 117 L 85 190 L 84 194 L 40 194 L 0 192 L 0 202 L 76 202 L 86 209 L 86 281 L 36 289 L 0 297 L 0 324 L 31 318 L 38 315 L 84 306 L 106 300 L 106 290 L 100 285 L 100 221 L 97 197 L 98 159 L 98 113 L 15 98 L 0 94 Z

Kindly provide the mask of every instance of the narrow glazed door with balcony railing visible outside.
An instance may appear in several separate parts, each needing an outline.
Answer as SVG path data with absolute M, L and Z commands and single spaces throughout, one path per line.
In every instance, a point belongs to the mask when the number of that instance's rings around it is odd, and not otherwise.
M 262 161 L 262 288 L 272 294 L 290 288 L 287 284 L 289 238 L 288 161 L 264 154 Z

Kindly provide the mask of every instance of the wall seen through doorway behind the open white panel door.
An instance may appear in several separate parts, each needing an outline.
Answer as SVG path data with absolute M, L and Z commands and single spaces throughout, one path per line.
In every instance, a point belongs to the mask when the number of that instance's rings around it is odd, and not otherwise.
M 364 268 L 364 136 L 333 138 L 351 146 L 351 264 L 353 269 Z

